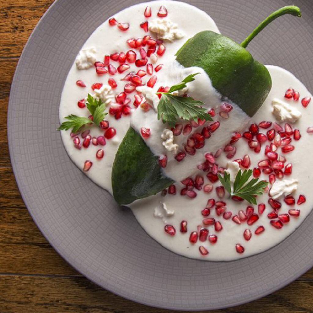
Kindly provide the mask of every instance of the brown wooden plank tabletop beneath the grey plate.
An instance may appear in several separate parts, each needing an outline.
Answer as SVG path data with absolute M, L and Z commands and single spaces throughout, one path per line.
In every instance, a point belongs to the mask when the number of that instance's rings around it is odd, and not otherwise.
M 125 300 L 76 272 L 40 233 L 16 186 L 7 142 L 10 85 L 23 46 L 52 2 L 0 1 L 0 313 L 170 312 Z M 313 269 L 263 299 L 215 312 L 313 312 L 312 298 Z

